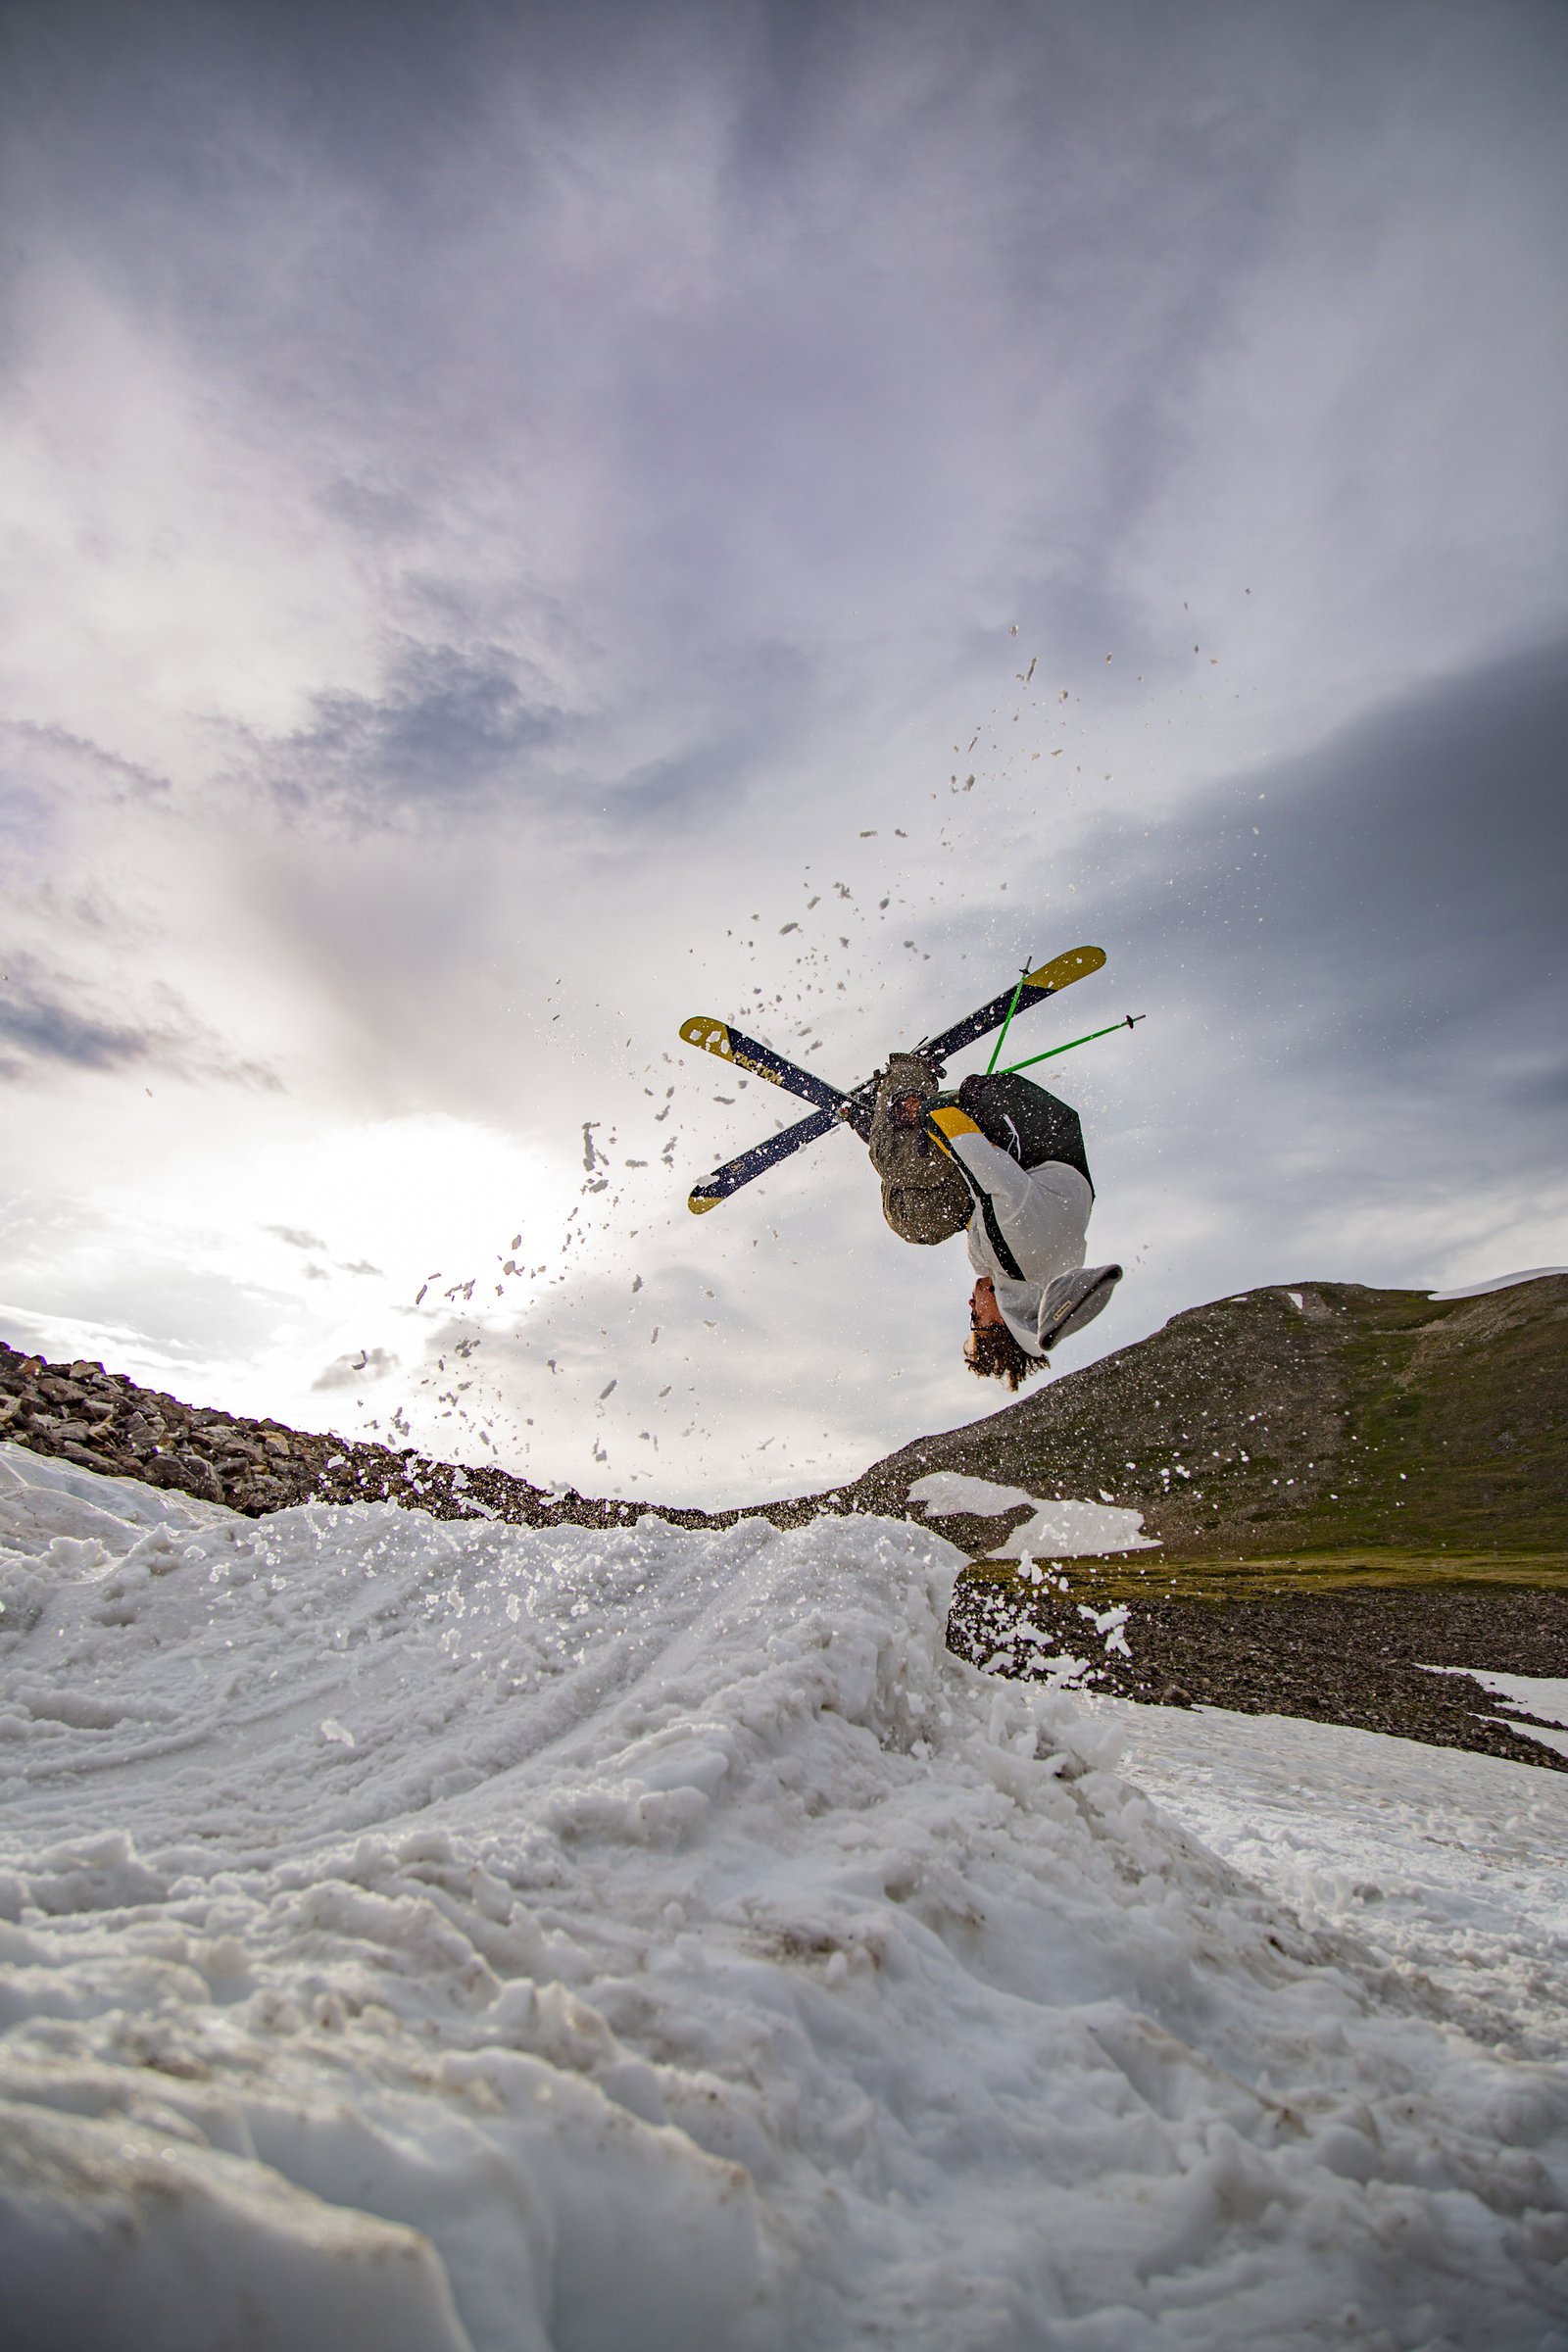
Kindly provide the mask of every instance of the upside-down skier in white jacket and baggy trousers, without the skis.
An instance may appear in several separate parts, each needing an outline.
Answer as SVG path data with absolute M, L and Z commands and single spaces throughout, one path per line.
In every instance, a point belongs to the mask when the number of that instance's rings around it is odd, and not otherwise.
M 919 1054 L 877 1073 L 870 1129 L 882 1214 L 903 1242 L 969 1232 L 964 1362 L 1018 1388 L 1107 1305 L 1119 1265 L 1084 1265 L 1093 1181 L 1077 1110 L 1016 1073 L 938 1094 Z

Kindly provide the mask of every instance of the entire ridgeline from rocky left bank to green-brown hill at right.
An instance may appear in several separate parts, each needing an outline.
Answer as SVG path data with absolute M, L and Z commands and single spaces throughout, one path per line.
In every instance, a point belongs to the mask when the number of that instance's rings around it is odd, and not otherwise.
M 411 1446 L 207 1411 L 101 1364 L 2 1345 L 0 1437 L 252 1515 L 386 1498 L 524 1524 L 656 1510 L 677 1526 L 757 1515 L 790 1526 L 820 1512 L 914 1517 L 910 1486 L 954 1470 L 1041 1501 L 1133 1508 L 1173 1564 L 1354 1550 L 1568 1564 L 1568 1275 L 1472 1298 L 1309 1279 L 1234 1291 L 999 1414 L 912 1437 L 853 1479 L 717 1512 L 550 1491 Z M 1027 1510 L 924 1517 L 985 1557 Z

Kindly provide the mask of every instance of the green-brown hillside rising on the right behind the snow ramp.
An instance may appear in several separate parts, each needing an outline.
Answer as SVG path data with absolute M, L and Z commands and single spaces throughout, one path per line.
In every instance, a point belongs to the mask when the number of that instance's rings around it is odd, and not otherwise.
M 1443 1305 L 1354 1282 L 1244 1291 L 842 1494 L 905 1510 L 929 1470 L 1105 1494 L 1171 1562 L 1568 1562 L 1568 1277 Z M 1020 1517 L 940 1524 L 985 1552 Z

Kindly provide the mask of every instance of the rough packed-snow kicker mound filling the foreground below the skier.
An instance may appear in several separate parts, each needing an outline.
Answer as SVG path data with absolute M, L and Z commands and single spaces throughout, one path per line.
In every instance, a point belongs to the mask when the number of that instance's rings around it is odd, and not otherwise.
M 1302 1926 L 938 1536 L 5 1446 L 0 1545 L 9 2352 L 1568 2345 L 1549 1985 Z

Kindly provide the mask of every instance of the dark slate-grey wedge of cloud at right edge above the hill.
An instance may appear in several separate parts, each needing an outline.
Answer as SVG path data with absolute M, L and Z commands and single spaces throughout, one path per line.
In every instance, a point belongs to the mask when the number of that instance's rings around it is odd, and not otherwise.
M 1185 957 L 1192 985 L 1302 1037 L 1349 1025 L 1387 1054 L 1533 1021 L 1568 964 L 1563 776 L 1568 644 L 1549 644 L 1237 776 L 1150 842 L 1103 835 L 1086 863 L 1131 887 L 1091 903 L 1159 941 L 1166 974 Z

